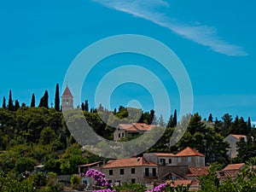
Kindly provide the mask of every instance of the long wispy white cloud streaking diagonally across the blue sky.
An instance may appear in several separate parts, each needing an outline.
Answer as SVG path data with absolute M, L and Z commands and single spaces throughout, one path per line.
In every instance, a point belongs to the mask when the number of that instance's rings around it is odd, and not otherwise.
M 223 38 L 219 38 L 217 29 L 213 26 L 192 25 L 177 22 L 164 13 L 160 9 L 168 9 L 171 7 L 164 0 L 92 0 L 96 3 L 123 11 L 125 13 L 150 20 L 159 26 L 166 27 L 177 35 L 187 38 L 197 44 L 201 44 L 211 48 L 213 51 L 224 55 L 236 56 L 247 55 L 247 52 L 236 44 L 230 44 Z

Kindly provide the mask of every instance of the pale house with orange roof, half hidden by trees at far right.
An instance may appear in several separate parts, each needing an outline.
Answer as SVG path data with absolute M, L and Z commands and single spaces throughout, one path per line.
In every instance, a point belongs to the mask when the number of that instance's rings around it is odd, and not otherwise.
M 227 154 L 230 157 L 230 159 L 236 158 L 238 154 L 236 143 L 239 142 L 241 138 L 244 138 L 245 141 L 247 141 L 247 136 L 245 135 L 230 134 L 229 136 L 224 138 L 224 142 L 227 142 L 230 144 L 230 148 L 227 148 L 228 149 Z

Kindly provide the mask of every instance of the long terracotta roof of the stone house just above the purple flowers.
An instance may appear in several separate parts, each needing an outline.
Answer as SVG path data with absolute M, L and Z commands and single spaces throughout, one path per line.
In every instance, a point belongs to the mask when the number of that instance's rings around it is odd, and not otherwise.
M 136 158 L 125 158 L 119 160 L 108 160 L 106 166 L 102 166 L 102 168 L 116 168 L 116 167 L 125 167 L 125 166 L 157 166 L 150 160 L 143 159 L 143 157 Z

